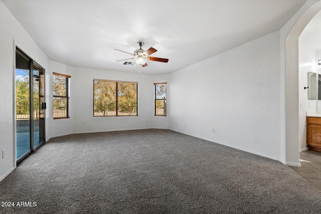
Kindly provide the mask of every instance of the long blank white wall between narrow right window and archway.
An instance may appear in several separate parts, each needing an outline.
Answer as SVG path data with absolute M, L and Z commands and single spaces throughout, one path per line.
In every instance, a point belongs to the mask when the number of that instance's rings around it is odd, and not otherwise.
M 274 32 L 172 73 L 170 128 L 279 159 L 279 48 Z

